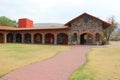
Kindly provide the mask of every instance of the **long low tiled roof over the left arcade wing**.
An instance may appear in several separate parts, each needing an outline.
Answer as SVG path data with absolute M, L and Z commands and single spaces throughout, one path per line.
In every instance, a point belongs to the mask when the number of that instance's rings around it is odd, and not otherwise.
M 69 29 L 68 26 L 51 26 L 51 27 L 33 27 L 33 28 L 16 28 L 9 26 L 0 26 L 0 30 L 54 30 L 54 29 Z

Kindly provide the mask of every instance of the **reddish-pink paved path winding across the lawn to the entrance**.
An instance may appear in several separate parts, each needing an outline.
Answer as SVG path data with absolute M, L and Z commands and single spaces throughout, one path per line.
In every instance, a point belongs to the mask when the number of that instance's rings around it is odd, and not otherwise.
M 49 60 L 13 71 L 0 80 L 68 80 L 86 61 L 89 46 L 73 46 Z

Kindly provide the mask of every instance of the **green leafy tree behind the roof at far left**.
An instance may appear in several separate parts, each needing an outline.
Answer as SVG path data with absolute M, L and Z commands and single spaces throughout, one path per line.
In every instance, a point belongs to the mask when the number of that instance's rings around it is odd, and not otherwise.
M 0 17 L 0 26 L 11 26 L 11 27 L 16 27 L 17 22 L 14 20 L 11 20 L 5 16 Z

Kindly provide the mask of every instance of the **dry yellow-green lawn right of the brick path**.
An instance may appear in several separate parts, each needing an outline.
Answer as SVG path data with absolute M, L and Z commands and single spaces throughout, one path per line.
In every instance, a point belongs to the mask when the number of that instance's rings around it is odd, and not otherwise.
M 87 59 L 70 80 L 120 80 L 120 42 L 93 47 Z

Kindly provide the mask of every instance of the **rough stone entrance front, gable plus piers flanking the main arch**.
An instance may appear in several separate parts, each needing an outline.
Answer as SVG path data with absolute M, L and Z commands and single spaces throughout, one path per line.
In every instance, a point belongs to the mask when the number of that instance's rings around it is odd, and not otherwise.
M 77 33 L 78 44 L 80 44 L 80 35 L 83 33 L 92 34 L 93 44 L 95 44 L 95 34 L 99 33 L 102 36 L 102 22 L 91 16 L 84 15 L 71 23 L 71 35 Z

